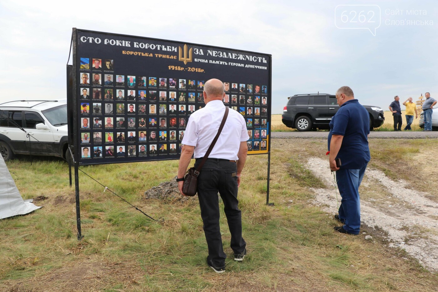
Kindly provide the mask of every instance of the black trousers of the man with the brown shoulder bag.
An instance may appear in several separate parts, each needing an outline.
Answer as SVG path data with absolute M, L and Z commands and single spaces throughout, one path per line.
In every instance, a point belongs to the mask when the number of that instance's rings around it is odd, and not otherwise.
M 197 159 L 194 166 L 198 167 L 201 160 Z M 242 253 L 246 246 L 246 242 L 242 238 L 241 212 L 237 207 L 239 203 L 237 200 L 237 176 L 233 176 L 236 172 L 235 162 L 208 158 L 198 176 L 198 199 L 208 245 L 208 256 L 216 267 L 225 267 L 226 258 L 219 228 L 218 192 L 224 204 L 226 220 L 231 233 L 231 249 L 234 253 Z

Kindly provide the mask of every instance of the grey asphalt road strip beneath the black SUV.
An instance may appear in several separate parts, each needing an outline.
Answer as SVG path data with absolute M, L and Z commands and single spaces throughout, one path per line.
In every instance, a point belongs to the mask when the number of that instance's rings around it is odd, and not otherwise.
M 314 132 L 272 132 L 272 138 L 327 138 L 329 131 Z M 438 138 L 437 132 L 371 132 L 369 139 L 421 139 L 421 138 Z

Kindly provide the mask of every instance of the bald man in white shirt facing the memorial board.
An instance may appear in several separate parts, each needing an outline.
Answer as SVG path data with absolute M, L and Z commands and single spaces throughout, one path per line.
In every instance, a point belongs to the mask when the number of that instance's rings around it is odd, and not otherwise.
M 195 167 L 198 167 L 217 134 L 225 113 L 222 81 L 210 79 L 205 82 L 203 96 L 205 107 L 191 114 L 182 140 L 184 147 L 177 174 L 178 188 L 182 195 L 184 174 L 192 155 L 194 154 L 196 159 Z M 234 260 L 241 261 L 246 254 L 246 242 L 242 238 L 241 212 L 237 207 L 237 190 L 247 157 L 248 139 L 244 118 L 237 111 L 229 110 L 219 139 L 198 176 L 198 199 L 208 245 L 207 264 L 216 273 L 225 271 L 226 258 L 219 228 L 218 192 L 225 205 Z

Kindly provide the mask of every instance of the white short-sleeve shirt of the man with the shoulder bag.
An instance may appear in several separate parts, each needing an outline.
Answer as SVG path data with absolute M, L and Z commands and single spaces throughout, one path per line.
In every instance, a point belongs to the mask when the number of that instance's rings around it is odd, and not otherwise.
M 194 158 L 204 157 L 219 130 L 225 114 L 222 100 L 212 100 L 204 108 L 191 114 L 182 144 L 195 146 Z M 240 142 L 249 139 L 244 117 L 236 110 L 229 110 L 222 132 L 209 158 L 237 160 Z

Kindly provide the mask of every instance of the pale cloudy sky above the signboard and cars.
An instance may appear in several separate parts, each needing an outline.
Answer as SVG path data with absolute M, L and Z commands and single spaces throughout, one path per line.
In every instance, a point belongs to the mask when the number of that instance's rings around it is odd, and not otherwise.
M 73 27 L 272 54 L 274 114 L 287 96 L 342 85 L 384 110 L 395 95 L 438 97 L 436 0 L 211 3 L 1 1 L 0 101 L 66 98 Z

